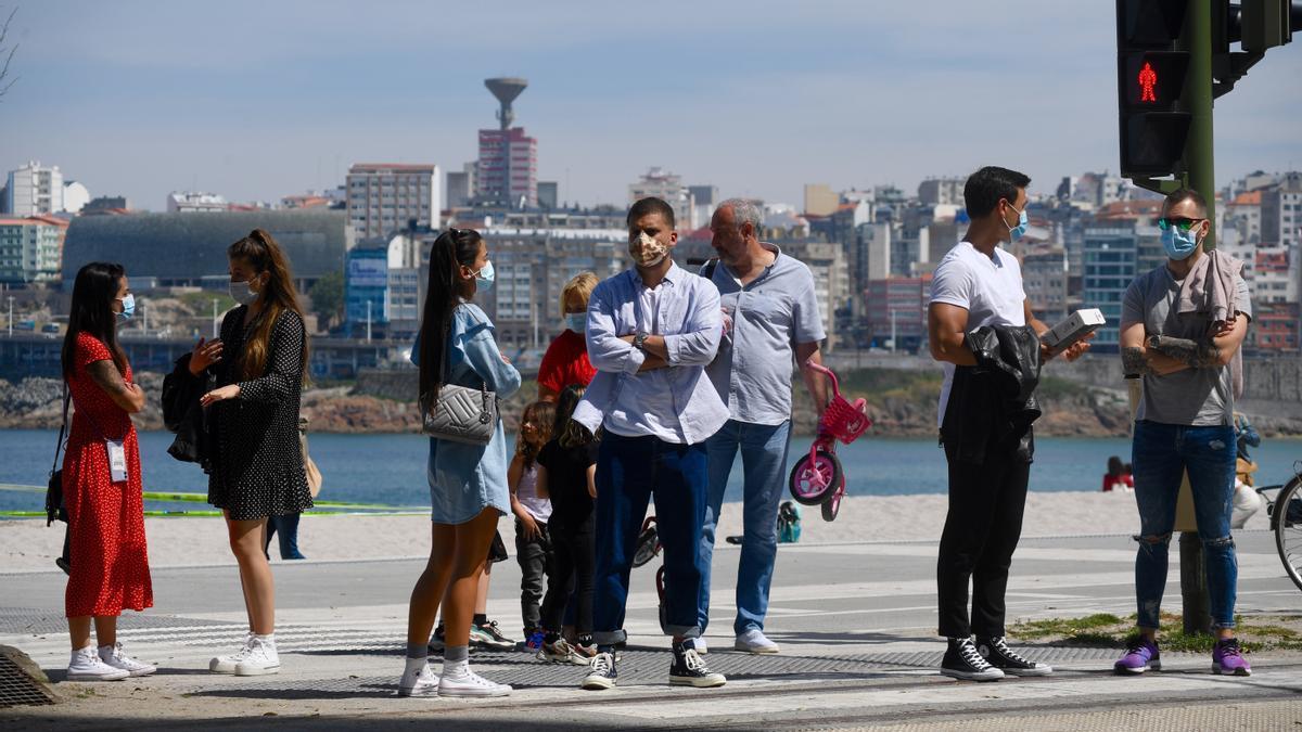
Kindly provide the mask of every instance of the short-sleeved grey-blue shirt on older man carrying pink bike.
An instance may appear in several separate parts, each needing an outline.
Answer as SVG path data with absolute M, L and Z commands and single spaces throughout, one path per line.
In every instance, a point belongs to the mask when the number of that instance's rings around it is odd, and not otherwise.
M 771 244 L 763 246 L 777 257 L 746 287 L 727 264 L 715 266 L 711 281 L 732 328 L 707 373 L 733 419 L 781 425 L 792 418 L 794 349 L 827 333 L 810 268 Z

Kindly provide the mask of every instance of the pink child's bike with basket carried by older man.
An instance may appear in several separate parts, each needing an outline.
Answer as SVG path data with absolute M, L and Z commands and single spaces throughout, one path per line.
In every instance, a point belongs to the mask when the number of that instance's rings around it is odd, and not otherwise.
M 867 415 L 865 400 L 857 399 L 852 404 L 841 396 L 836 374 L 831 369 L 812 362 L 805 365 L 832 380 L 832 401 L 819 419 L 818 438 L 810 445 L 810 453 L 792 468 L 789 487 L 797 503 L 820 505 L 823 520 L 832 521 L 845 498 L 845 473 L 841 470 L 841 461 L 836 458 L 836 440 L 853 443 L 872 426 L 872 419 Z

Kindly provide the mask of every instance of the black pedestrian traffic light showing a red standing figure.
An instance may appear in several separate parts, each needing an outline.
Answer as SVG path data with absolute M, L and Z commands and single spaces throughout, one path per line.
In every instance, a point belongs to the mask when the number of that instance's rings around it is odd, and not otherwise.
M 1189 52 L 1177 49 L 1186 0 L 1117 0 L 1121 175 L 1176 175 L 1193 115 L 1180 104 Z

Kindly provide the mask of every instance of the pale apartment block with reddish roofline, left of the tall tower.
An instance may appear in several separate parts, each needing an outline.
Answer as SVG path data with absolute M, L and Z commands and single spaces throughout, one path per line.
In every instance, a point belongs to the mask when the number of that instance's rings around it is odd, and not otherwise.
M 348 169 L 348 246 L 388 238 L 414 220 L 439 228 L 441 177 L 435 164 L 358 163 Z

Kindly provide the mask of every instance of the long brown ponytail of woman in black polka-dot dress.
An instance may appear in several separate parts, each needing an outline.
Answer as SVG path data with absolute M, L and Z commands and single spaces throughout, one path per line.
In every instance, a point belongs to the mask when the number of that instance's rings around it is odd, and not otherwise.
M 301 319 L 303 310 L 298 305 L 298 293 L 294 290 L 294 277 L 289 271 L 289 259 L 281 251 L 276 240 L 271 234 L 254 229 L 249 236 L 227 247 L 227 258 L 242 259 L 256 274 L 268 272 L 267 284 L 262 292 L 262 313 L 259 313 L 258 327 L 243 345 L 240 354 L 240 370 L 246 379 L 256 379 L 266 374 L 268 352 L 271 350 L 271 331 L 276 327 L 276 319 L 283 313 L 290 310 Z M 303 382 L 307 382 L 307 340 L 303 339 Z

